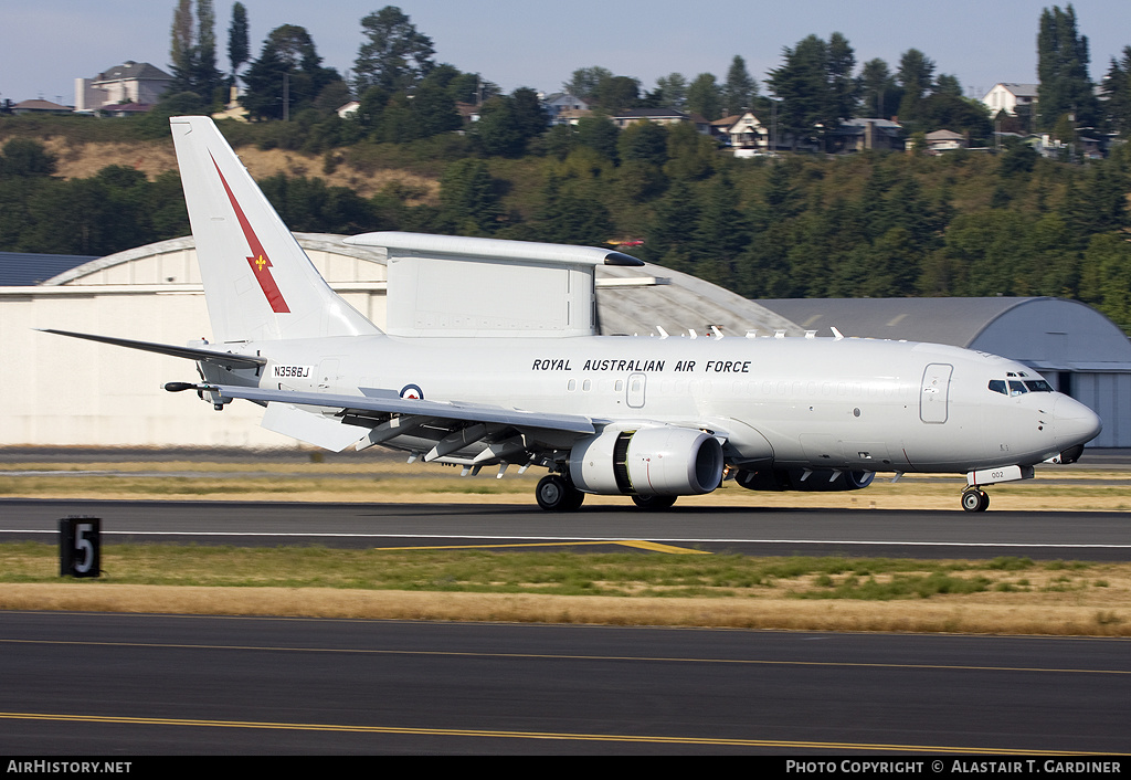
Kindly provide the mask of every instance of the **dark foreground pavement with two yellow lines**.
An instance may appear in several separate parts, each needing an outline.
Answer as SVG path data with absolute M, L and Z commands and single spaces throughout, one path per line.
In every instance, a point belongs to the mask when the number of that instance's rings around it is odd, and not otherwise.
M 8 755 L 1131 751 L 1126 640 L 0 614 Z

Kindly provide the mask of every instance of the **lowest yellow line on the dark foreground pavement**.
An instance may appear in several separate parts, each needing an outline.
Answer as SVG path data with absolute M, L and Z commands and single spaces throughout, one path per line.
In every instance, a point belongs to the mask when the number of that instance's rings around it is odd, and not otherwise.
M 714 737 L 661 737 L 627 734 L 564 734 L 554 731 L 489 731 L 484 729 L 428 729 L 396 726 L 349 726 L 343 723 L 276 723 L 242 720 L 196 720 L 188 718 L 128 718 L 115 715 L 50 714 L 43 712 L 0 712 L 0 719 L 41 720 L 64 723 L 110 723 L 115 726 L 188 726 L 232 729 L 288 731 L 335 731 L 339 734 L 396 734 L 431 737 L 489 737 L 497 739 L 556 739 L 563 742 L 641 743 L 651 745 L 708 745 L 717 747 L 780 747 L 823 751 L 899 751 L 923 753 L 966 753 L 991 755 L 1112 755 L 1072 751 L 1041 751 L 1008 747 L 953 747 L 949 745 L 886 745 L 869 743 L 794 742 L 787 739 L 722 739 Z

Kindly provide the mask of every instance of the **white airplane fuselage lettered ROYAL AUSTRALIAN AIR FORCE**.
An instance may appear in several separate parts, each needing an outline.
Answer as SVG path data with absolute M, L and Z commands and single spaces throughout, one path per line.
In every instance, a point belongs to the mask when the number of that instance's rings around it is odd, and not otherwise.
M 1053 392 L 1008 395 L 1024 366 L 939 344 L 858 338 L 402 338 L 252 343 L 274 362 L 233 384 L 578 414 L 610 427 L 710 426 L 732 464 L 968 472 L 1087 442 L 1096 415 Z M 714 432 L 714 431 L 713 431 Z M 396 439 L 390 446 L 411 448 Z

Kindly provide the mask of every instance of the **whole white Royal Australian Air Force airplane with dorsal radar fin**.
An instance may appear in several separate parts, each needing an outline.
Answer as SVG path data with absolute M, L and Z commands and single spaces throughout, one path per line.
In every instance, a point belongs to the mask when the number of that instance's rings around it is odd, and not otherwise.
M 382 445 L 463 473 L 544 468 L 543 509 L 587 494 L 665 509 L 724 480 L 751 490 L 857 490 L 877 472 L 990 485 L 1071 463 L 1099 418 L 1031 369 L 929 343 L 844 337 L 601 336 L 597 247 L 366 233 L 388 252 L 382 332 L 338 297 L 205 117 L 170 120 L 213 343 L 49 331 L 196 361 L 171 382 L 269 430 L 340 452 Z

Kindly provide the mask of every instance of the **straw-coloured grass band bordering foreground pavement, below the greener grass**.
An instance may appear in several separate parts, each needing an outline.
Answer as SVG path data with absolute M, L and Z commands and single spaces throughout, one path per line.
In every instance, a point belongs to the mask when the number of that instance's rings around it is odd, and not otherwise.
M 1128 602 L 1116 609 L 967 600 L 619 599 L 320 588 L 0 585 L 0 609 L 1069 636 L 1131 636 L 1129 607 Z

